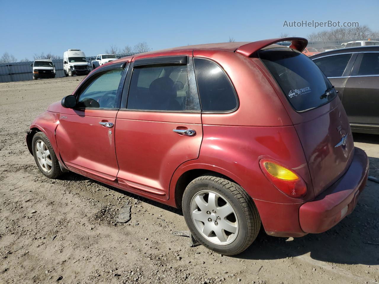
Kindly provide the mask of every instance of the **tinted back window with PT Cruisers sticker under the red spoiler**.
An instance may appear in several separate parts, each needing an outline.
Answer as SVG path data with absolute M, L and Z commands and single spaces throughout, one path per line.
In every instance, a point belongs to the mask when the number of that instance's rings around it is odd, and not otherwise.
M 282 88 L 296 111 L 322 106 L 336 97 L 329 80 L 315 63 L 288 48 L 262 50 L 260 59 Z

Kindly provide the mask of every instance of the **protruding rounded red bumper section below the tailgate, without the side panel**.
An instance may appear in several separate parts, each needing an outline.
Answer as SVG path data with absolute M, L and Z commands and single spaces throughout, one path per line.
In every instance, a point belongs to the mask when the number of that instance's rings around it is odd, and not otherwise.
M 353 160 L 346 173 L 313 201 L 300 206 L 299 222 L 302 231 L 324 232 L 349 215 L 357 205 L 367 176 L 367 155 L 362 149 L 355 148 Z

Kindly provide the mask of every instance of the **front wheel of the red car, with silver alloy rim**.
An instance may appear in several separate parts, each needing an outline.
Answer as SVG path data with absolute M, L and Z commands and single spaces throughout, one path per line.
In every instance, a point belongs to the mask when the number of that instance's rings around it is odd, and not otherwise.
M 39 147 L 37 144 L 39 145 Z M 54 149 L 50 143 L 50 140 L 49 138 L 47 138 L 45 133 L 37 132 L 36 134 L 34 134 L 31 145 L 33 150 L 34 161 L 36 161 L 38 169 L 48 178 L 58 178 L 58 176 L 62 174 L 62 171 L 59 166 L 58 159 L 56 158 Z M 42 145 L 45 145 L 46 147 Z M 43 165 L 44 162 L 42 162 L 42 159 L 38 158 L 39 153 L 41 153 L 41 151 L 39 151 L 38 148 L 44 148 L 44 150 L 47 148 L 47 150 L 49 151 L 49 155 L 42 157 L 43 161 L 47 161 L 45 165 Z M 46 150 L 44 151 L 44 153 L 46 153 Z

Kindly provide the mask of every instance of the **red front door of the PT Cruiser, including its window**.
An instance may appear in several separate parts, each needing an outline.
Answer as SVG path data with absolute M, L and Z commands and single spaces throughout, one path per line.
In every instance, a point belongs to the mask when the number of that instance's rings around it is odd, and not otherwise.
M 62 108 L 56 140 L 64 164 L 73 172 L 116 181 L 114 126 L 124 72 L 120 64 L 95 72 L 77 89 L 77 107 Z

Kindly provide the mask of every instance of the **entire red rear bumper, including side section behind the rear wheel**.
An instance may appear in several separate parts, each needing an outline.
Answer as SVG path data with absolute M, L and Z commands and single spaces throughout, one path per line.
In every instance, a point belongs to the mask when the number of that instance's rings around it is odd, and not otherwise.
M 355 148 L 346 173 L 314 200 L 282 204 L 254 199 L 254 203 L 266 233 L 271 236 L 301 237 L 308 233 L 321 233 L 353 211 L 367 176 L 367 155 L 360 148 Z

